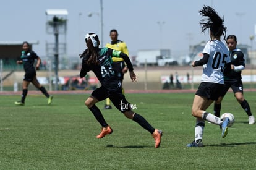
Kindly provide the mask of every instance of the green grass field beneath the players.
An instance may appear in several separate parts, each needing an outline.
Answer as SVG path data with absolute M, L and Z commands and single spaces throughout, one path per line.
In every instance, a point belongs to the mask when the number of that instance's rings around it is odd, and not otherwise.
M 245 92 L 253 113 L 255 95 Z M 221 112 L 236 122 L 226 138 L 206 123 L 202 148 L 186 147 L 194 140 L 194 93 L 126 94 L 136 113 L 163 130 L 158 149 L 139 124 L 116 108 L 101 109 L 104 101 L 98 107 L 114 132 L 97 139 L 101 127 L 83 104 L 87 97 L 54 95 L 48 106 L 43 95 L 28 92 L 25 106 L 15 106 L 20 96 L 0 95 L 0 169 L 256 169 L 256 124 L 248 124 L 233 93 Z

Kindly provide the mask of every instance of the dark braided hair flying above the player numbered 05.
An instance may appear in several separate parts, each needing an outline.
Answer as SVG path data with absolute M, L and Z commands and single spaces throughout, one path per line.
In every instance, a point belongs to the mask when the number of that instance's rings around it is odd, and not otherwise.
M 224 19 L 217 14 L 215 9 L 209 6 L 203 6 L 203 9 L 198 10 L 199 14 L 202 15 L 203 18 L 201 20 L 200 25 L 202 26 L 202 32 L 205 32 L 207 28 L 210 28 L 214 37 L 224 36 L 224 40 L 226 41 L 226 29 L 223 25 Z

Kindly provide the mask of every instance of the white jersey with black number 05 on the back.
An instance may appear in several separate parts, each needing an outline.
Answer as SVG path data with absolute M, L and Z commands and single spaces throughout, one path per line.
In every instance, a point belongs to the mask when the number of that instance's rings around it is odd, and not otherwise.
M 201 82 L 224 84 L 223 70 L 226 63 L 230 62 L 228 48 L 221 41 L 210 40 L 203 53 L 209 54 L 210 57 L 207 64 L 203 65 Z

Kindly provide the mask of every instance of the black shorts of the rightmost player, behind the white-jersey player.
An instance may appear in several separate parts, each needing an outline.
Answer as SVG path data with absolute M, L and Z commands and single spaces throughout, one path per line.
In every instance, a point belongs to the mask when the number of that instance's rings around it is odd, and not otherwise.
M 235 82 L 225 82 L 220 96 L 224 97 L 230 87 L 232 88 L 233 93 L 238 93 L 238 92 L 244 93 L 244 86 L 242 85 L 242 80 L 240 79 Z

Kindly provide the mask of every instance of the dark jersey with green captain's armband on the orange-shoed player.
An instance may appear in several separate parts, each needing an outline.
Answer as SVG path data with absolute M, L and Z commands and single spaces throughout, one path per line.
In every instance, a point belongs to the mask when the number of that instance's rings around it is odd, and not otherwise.
M 87 72 L 92 70 L 101 85 L 103 85 L 109 91 L 115 91 L 121 87 L 121 81 L 117 77 L 117 72 L 113 69 L 112 57 L 122 57 L 129 68 L 129 71 L 133 70 L 132 63 L 129 57 L 121 51 L 116 51 L 110 48 L 99 48 L 98 49 L 98 64 L 87 64 L 90 56 L 87 53 L 82 54 L 82 68 L 80 71 L 80 77 L 84 77 Z

